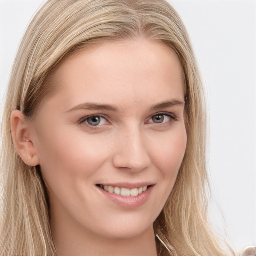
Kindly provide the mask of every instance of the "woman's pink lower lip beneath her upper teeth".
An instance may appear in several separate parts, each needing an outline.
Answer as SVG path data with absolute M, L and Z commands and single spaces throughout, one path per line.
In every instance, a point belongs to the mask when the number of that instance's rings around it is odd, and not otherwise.
M 146 203 L 148 200 L 151 191 L 153 189 L 153 186 L 150 186 L 147 188 L 147 190 L 137 196 L 122 196 L 115 193 L 108 193 L 102 188 L 98 187 L 98 189 L 112 202 L 118 204 L 121 207 L 124 208 L 137 208 L 139 206 L 142 206 Z

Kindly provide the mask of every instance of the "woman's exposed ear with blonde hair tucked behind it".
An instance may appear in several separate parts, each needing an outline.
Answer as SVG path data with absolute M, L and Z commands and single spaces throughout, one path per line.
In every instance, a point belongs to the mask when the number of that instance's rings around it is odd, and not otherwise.
M 38 165 L 39 157 L 31 140 L 31 123 L 19 110 L 11 113 L 11 133 L 15 149 L 24 163 L 30 166 Z

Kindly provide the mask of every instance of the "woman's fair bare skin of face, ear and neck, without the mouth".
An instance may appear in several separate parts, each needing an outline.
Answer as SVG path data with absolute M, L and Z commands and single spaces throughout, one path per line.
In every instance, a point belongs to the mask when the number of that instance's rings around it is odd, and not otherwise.
M 58 256 L 155 256 L 153 222 L 186 148 L 176 54 L 146 39 L 107 42 L 66 58 L 51 79 L 58 90 L 33 120 L 13 111 L 12 133 L 24 162 L 40 164 Z M 115 110 L 75 109 L 84 103 Z M 143 205 L 126 208 L 96 186 L 118 182 L 154 186 Z

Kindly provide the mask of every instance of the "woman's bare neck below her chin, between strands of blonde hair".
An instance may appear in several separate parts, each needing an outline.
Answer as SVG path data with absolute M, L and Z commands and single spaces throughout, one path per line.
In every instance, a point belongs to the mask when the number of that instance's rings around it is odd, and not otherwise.
M 136 237 L 114 239 L 68 226 L 52 219 L 52 237 L 58 256 L 157 256 L 153 226 Z

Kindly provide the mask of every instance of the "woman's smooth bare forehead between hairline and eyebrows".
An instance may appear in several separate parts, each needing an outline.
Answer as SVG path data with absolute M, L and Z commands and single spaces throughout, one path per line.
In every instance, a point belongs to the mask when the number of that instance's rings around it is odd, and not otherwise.
M 146 39 L 105 42 L 78 51 L 61 61 L 50 79 L 68 107 L 91 100 L 129 105 L 156 97 L 184 98 L 177 55 L 165 44 Z

